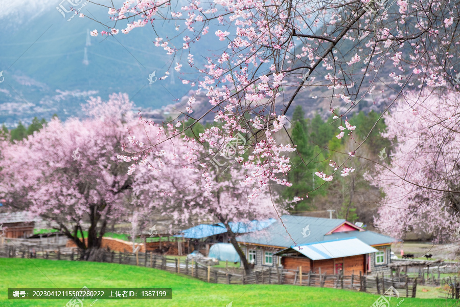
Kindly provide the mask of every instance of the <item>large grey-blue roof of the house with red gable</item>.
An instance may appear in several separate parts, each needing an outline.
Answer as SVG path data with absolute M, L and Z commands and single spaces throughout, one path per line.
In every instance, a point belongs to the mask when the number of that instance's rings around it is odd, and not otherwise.
M 372 231 L 345 231 L 325 235 L 346 222 L 343 219 L 285 214 L 282 216 L 282 220 L 286 229 L 280 221 L 277 221 L 261 231 L 238 236 L 237 240 L 240 243 L 277 246 L 280 248 L 288 248 L 294 243 L 304 245 L 350 237 L 356 237 L 367 245 L 390 244 L 397 241 L 395 238 Z M 303 229 L 306 226 L 309 227 L 304 233 Z

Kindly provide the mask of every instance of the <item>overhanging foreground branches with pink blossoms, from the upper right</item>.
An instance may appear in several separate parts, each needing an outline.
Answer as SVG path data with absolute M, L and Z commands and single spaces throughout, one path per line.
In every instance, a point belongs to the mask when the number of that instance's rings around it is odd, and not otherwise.
M 328 100 L 340 139 L 353 138 L 355 126 L 348 123 L 347 115 L 359 103 L 382 99 L 389 106 L 405 87 L 458 86 L 453 82 L 460 37 L 454 4 L 126 1 L 110 7 L 110 26 L 91 35 L 128 34 L 152 27 L 154 45 L 171 56 L 175 70 L 181 73 L 183 65 L 190 65 L 198 73 L 179 77 L 194 94 L 186 111 L 174 119 L 178 129 L 171 129 L 169 136 L 182 134 L 189 127 L 184 125 L 188 119 L 193 119 L 192 126 L 203 120 L 193 111 L 197 99 L 205 95 L 206 114 L 214 115 L 216 125 L 206 128 L 199 141 L 211 145 L 210 155 L 240 133 L 254 152 L 242 163 L 248 170 L 246 182 L 256 181 L 261 187 L 270 180 L 289 185 L 283 177 L 290 170 L 287 153 L 294 148 L 278 141 L 276 132 L 284 129 L 285 116 L 299 95 L 319 91 L 321 99 Z M 104 16 L 98 17 L 104 24 Z M 164 35 L 165 24 L 177 35 Z M 216 46 L 215 56 L 204 63 L 196 60 L 203 37 Z M 155 150 L 155 145 L 150 142 L 145 149 Z M 353 157 L 355 151 L 351 152 Z M 346 163 L 316 174 L 326 181 L 339 170 L 347 176 L 353 170 Z

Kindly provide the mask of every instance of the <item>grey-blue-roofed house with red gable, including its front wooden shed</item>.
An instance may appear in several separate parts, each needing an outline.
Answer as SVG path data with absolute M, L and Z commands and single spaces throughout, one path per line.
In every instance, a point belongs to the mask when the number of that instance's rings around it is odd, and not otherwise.
M 283 266 L 296 269 L 299 265 L 295 265 L 295 261 L 301 261 L 303 264 L 310 261 L 309 266 L 312 269 L 323 270 L 325 266 L 331 274 L 337 271 L 336 264 L 337 267 L 341 264 L 342 270 L 343 266 L 359 267 L 363 273 L 389 271 L 386 265 L 391 262 L 391 244 L 397 242 L 395 238 L 366 231 L 342 219 L 285 214 L 282 216 L 282 221 L 283 223 L 277 221 L 261 231 L 237 237 L 246 258 L 255 265 L 255 268 Z M 329 245 L 330 242 L 336 242 L 331 247 L 336 248 L 341 245 L 339 242 L 343 239 L 354 239 L 344 242 L 350 244 L 352 248 L 359 247 L 360 254 L 347 256 L 337 252 L 335 254 L 337 257 L 311 259 L 301 251 L 295 250 L 296 246 L 311 246 L 318 249 L 312 244 Z M 367 247 L 364 248 L 363 244 Z M 279 253 L 280 251 L 284 253 Z

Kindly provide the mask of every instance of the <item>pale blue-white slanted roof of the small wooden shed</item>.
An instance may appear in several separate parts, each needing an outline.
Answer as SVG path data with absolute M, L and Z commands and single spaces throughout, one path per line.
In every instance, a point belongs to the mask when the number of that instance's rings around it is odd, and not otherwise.
M 312 260 L 323 260 L 375 253 L 378 250 L 357 238 L 338 239 L 326 242 L 291 246 L 276 254 L 299 252 Z

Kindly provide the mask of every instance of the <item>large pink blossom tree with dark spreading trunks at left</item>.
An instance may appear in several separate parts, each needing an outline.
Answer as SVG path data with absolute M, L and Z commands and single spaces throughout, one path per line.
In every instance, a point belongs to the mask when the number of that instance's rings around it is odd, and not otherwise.
M 97 257 L 109 223 L 132 213 L 127 197 L 135 179 L 116 157 L 128 123 L 137 124 L 131 107 L 127 95 L 92 98 L 84 106 L 86 119 L 54 118 L 23 141 L 3 143 L 0 194 L 6 205 L 52 222 L 84 259 Z M 84 230 L 86 242 L 78 238 Z

